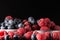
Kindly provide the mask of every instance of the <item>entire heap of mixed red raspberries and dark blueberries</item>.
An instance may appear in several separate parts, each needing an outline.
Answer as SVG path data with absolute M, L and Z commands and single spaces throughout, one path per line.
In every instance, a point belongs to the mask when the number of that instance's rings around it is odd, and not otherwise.
M 0 40 L 60 40 L 60 26 L 49 18 L 35 20 L 28 17 L 22 20 L 6 16 L 0 23 Z

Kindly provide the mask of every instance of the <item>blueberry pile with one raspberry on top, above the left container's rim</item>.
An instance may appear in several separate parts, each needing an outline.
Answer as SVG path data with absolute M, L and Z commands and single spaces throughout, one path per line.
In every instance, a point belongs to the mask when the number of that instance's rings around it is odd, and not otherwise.
M 11 16 L 7 16 L 4 21 L 0 23 L 0 29 L 17 29 L 19 25 L 23 25 L 20 19 L 13 19 Z

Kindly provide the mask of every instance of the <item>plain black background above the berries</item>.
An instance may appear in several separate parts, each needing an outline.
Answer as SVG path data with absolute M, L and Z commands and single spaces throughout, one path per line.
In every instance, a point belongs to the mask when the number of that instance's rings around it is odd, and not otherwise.
M 54 3 L 53 3 L 54 2 Z M 5 16 L 11 15 L 17 18 L 28 18 L 33 16 L 35 19 L 48 17 L 60 25 L 60 7 L 59 3 L 54 1 L 17 1 L 17 0 L 1 0 L 0 1 L 0 21 Z

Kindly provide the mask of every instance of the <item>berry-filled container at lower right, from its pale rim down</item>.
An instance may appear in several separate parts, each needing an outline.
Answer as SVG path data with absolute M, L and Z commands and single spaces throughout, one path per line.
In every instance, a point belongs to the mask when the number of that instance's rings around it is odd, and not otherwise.
M 31 40 L 60 40 L 60 31 L 34 31 Z

